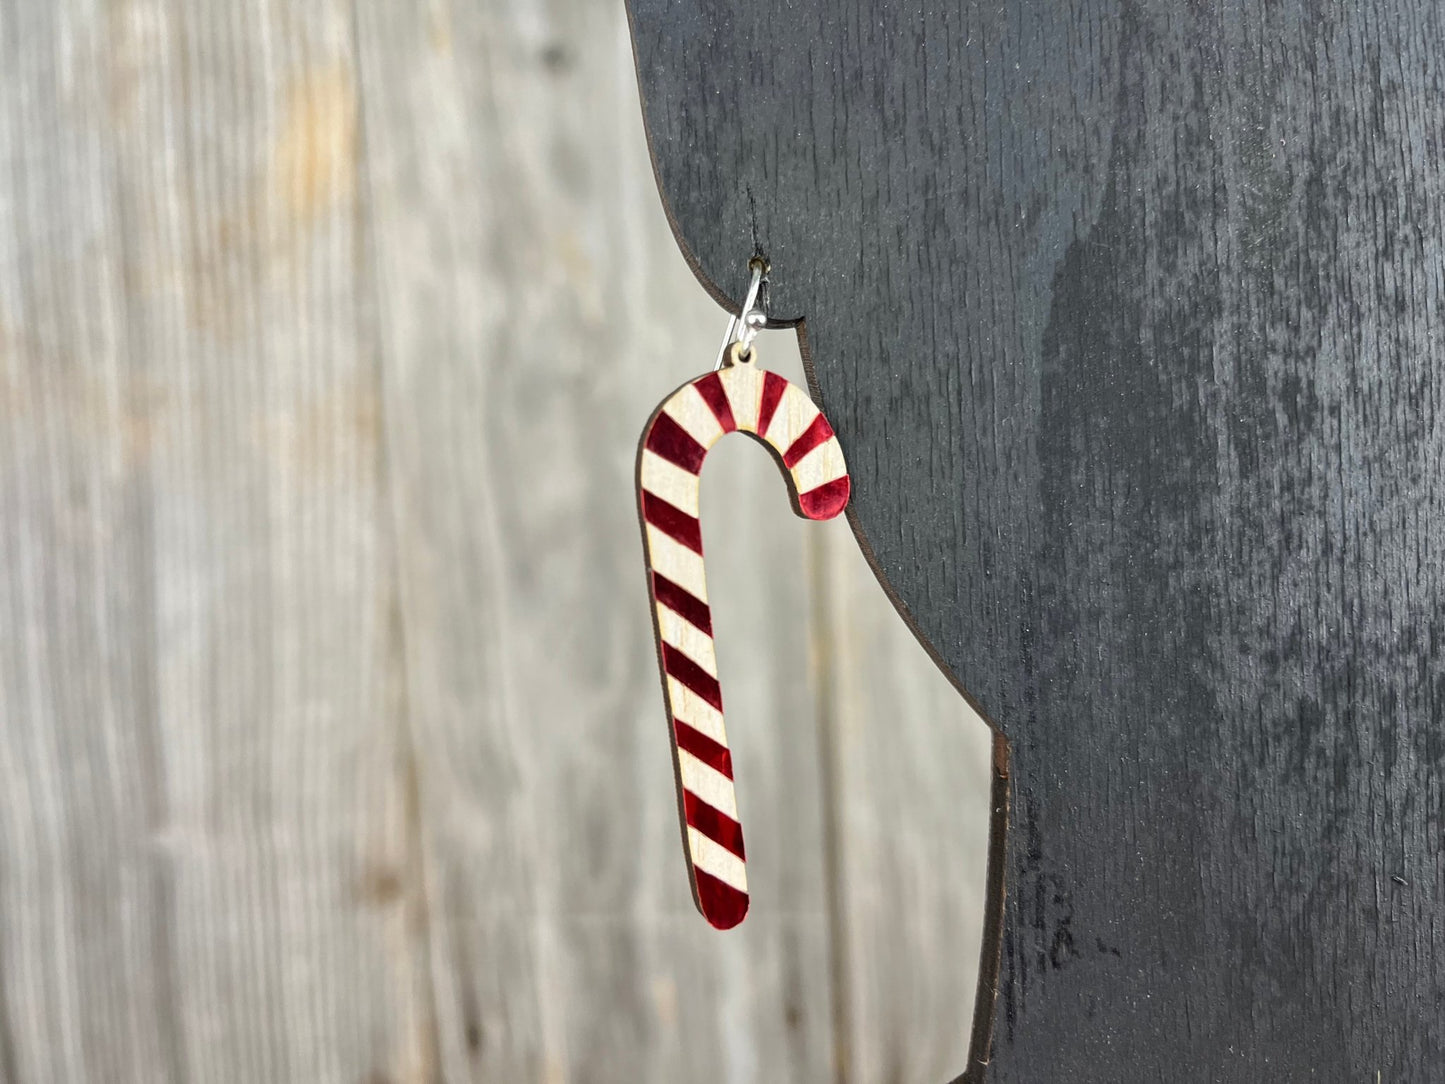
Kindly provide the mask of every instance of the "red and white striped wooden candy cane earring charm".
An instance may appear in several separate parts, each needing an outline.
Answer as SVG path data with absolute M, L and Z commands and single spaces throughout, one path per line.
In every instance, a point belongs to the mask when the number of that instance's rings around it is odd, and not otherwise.
M 838 438 L 806 392 L 749 363 L 683 384 L 643 431 L 637 503 L 688 873 L 698 911 L 718 929 L 736 926 L 747 913 L 747 869 L 722 728 L 698 497 L 704 458 L 733 431 L 777 452 L 793 507 L 808 519 L 837 516 L 850 489 Z

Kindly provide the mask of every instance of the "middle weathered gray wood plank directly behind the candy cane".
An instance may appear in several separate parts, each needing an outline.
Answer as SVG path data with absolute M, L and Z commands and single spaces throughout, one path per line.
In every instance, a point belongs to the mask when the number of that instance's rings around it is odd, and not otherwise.
M 827 1078 L 806 626 L 772 624 L 806 611 L 806 574 L 751 445 L 704 483 L 747 924 L 711 931 L 682 864 L 633 460 L 721 314 L 657 212 L 623 13 L 435 19 L 363 27 L 392 88 L 367 140 L 445 1074 Z

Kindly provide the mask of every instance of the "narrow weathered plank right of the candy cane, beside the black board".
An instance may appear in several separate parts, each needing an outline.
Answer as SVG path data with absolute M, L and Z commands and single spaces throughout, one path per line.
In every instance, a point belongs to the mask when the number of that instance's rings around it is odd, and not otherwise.
M 897 619 L 853 533 L 829 526 L 815 545 L 844 1080 L 952 1080 L 983 948 L 993 731 Z

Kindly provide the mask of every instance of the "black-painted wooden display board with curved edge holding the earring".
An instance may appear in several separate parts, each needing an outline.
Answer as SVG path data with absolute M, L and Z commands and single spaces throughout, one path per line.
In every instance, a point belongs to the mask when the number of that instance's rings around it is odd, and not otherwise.
M 772 262 L 1009 741 L 970 1077 L 1439 1080 L 1445 10 L 630 10 L 679 243 Z

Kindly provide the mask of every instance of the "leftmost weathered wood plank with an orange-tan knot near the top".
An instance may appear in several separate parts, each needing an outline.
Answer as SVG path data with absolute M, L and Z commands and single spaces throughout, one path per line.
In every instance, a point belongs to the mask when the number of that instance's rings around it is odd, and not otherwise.
M 420 1026 L 350 40 L 0 6 L 9 1080 L 368 1080 Z

